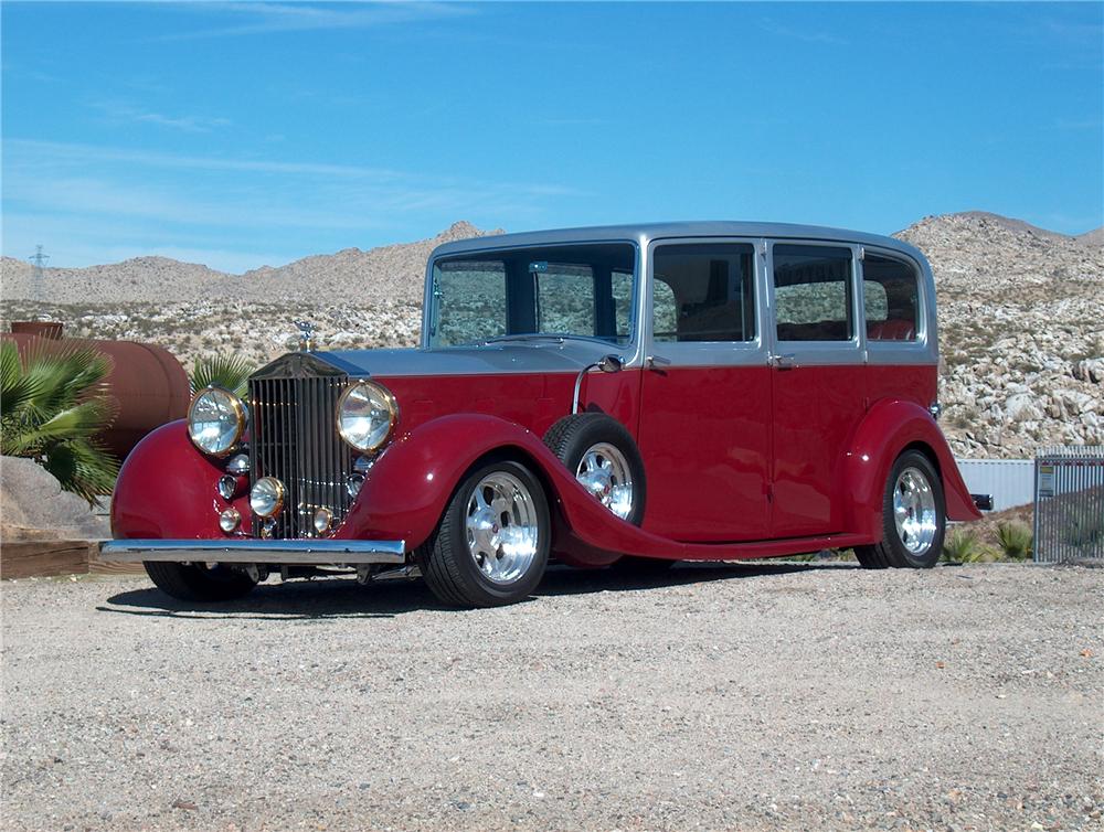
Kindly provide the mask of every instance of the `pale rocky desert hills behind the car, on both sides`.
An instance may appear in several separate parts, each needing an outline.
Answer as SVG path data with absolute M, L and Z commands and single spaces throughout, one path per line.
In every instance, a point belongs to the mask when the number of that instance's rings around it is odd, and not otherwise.
M 411 345 L 428 253 L 484 233 L 456 223 L 432 239 L 244 275 L 162 257 L 45 269 L 45 303 L 30 301 L 31 267 L 4 258 L 0 316 L 49 314 L 74 335 L 156 341 L 185 363 L 234 351 L 259 364 L 287 348 L 296 317 L 314 320 L 329 346 Z M 1071 237 L 972 212 L 925 217 L 896 236 L 935 271 L 955 452 L 1104 444 L 1104 230 Z

